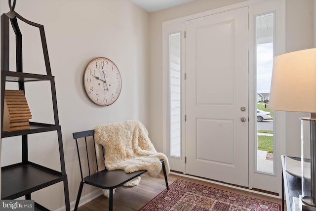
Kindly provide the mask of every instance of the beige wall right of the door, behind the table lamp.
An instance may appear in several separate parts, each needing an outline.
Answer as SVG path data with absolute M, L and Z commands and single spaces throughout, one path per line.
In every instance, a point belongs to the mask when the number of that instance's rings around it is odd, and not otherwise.
M 314 46 L 315 0 L 286 0 L 286 52 Z M 286 154 L 301 157 L 300 118 L 308 113 L 286 113 Z

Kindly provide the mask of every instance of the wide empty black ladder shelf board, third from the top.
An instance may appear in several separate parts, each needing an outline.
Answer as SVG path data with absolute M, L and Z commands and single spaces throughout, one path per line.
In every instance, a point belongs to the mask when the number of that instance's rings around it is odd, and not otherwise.
M 2 167 L 1 199 L 16 199 L 65 179 L 67 175 L 33 163 Z

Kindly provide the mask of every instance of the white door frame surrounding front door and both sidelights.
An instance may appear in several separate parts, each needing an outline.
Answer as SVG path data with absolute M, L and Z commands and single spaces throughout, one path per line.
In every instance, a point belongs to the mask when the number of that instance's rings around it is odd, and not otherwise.
M 163 73 L 162 73 L 162 108 L 163 108 L 163 122 L 162 122 L 162 128 L 163 128 L 163 152 L 166 155 L 169 155 L 168 151 L 169 151 L 169 119 L 168 119 L 168 105 L 169 105 L 169 90 L 168 90 L 168 70 L 169 70 L 169 59 L 168 59 L 168 49 L 169 49 L 169 45 L 168 45 L 168 35 L 169 33 L 174 33 L 174 32 L 183 32 L 185 31 L 184 28 L 184 22 L 188 21 L 188 20 L 192 20 L 195 18 L 200 18 L 203 16 L 208 16 L 208 15 L 212 15 L 212 14 L 216 14 L 216 13 L 220 13 L 220 12 L 225 12 L 225 11 L 229 11 L 229 10 L 233 10 L 233 9 L 237 9 L 240 7 L 244 7 L 244 6 L 248 6 L 248 14 L 249 14 L 249 20 L 248 20 L 248 24 L 249 24 L 249 75 L 248 75 L 248 85 L 249 85 L 249 90 L 254 90 L 253 88 L 255 87 L 254 84 L 254 23 L 253 23 L 253 19 L 251 17 L 254 16 L 254 9 L 256 7 L 260 7 L 261 5 L 264 6 L 265 3 L 270 3 L 270 2 L 276 2 L 277 4 L 277 12 L 276 12 L 276 23 L 277 23 L 277 27 L 276 27 L 276 40 L 277 40 L 277 45 L 276 45 L 276 54 L 280 54 L 280 53 L 284 53 L 285 52 L 285 0 L 246 0 L 243 2 L 239 2 L 236 4 L 232 4 L 232 5 L 228 5 L 225 7 L 220 7 L 220 8 L 216 8 L 216 9 L 212 9 L 209 11 L 205 11 L 205 12 L 201 12 L 201 13 L 197 13 L 194 15 L 189 15 L 189 16 L 185 16 L 185 17 L 181 17 L 181 18 L 177 18 L 174 20 L 169 20 L 169 21 L 165 21 L 162 23 L 162 67 L 163 67 Z M 176 30 L 173 31 L 172 27 L 176 27 Z M 180 27 L 180 30 L 179 28 Z M 182 27 L 182 28 L 181 28 Z M 182 39 L 184 39 L 184 37 L 182 37 Z M 183 43 L 184 41 L 182 41 Z M 185 47 L 184 47 L 184 43 L 182 45 L 182 49 L 181 49 L 181 58 L 183 58 L 183 56 L 185 55 Z M 185 72 L 185 66 L 184 66 L 184 60 L 182 59 L 181 61 L 181 65 L 182 65 L 182 72 L 181 74 L 183 74 L 182 79 L 181 79 L 181 83 L 184 84 L 184 72 Z M 250 81 L 252 79 L 252 81 Z M 182 89 L 182 106 L 184 106 L 185 104 L 183 102 L 185 102 L 185 96 L 184 96 L 184 91 L 185 89 Z M 255 132 L 255 122 L 257 120 L 256 118 L 256 113 L 255 113 L 255 106 L 254 104 L 251 105 L 250 102 L 256 102 L 254 101 L 254 94 L 253 93 L 248 93 L 248 101 L 249 101 L 249 139 L 252 137 L 255 137 L 256 132 Z M 182 115 L 182 152 L 185 152 L 185 133 L 184 133 L 184 129 L 185 129 L 185 120 L 184 120 L 184 110 L 182 109 L 181 115 Z M 252 118 L 251 118 L 252 117 Z M 276 143 L 276 156 L 275 156 L 275 173 L 276 173 L 276 177 L 278 179 L 278 181 L 281 181 L 281 165 L 280 165 L 280 155 L 281 154 L 285 154 L 285 139 L 282 137 L 285 137 L 286 131 L 285 131 L 285 113 L 284 112 L 276 112 L 275 113 L 275 117 L 276 117 L 276 121 L 274 122 L 274 130 L 277 131 L 277 133 L 274 134 L 274 138 L 275 138 L 275 143 Z M 257 188 L 257 183 L 255 182 L 256 180 L 258 180 L 260 178 L 259 174 L 263 174 L 263 173 L 258 173 L 255 172 L 255 162 L 254 159 L 251 158 L 255 158 L 255 146 L 253 143 L 251 143 L 249 141 L 249 188 Z M 182 157 L 179 159 L 179 161 L 177 162 L 179 164 L 178 169 L 176 171 L 179 172 L 183 172 L 184 174 L 186 174 L 186 169 L 185 169 L 185 155 L 182 155 Z M 170 162 L 170 164 L 172 165 L 172 161 Z M 281 195 L 281 183 L 279 183 L 278 185 L 278 194 L 279 196 Z

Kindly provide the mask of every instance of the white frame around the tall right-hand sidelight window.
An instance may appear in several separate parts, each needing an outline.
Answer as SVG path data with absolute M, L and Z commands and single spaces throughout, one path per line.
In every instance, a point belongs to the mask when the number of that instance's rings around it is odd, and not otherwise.
M 274 12 L 275 18 L 275 32 L 274 32 L 274 53 L 275 55 L 285 52 L 285 0 L 271 0 L 263 3 L 256 3 L 249 5 L 249 188 L 250 189 L 261 189 L 269 188 L 262 184 L 260 181 L 267 181 L 276 179 L 281 181 L 281 155 L 285 154 L 285 113 L 284 112 L 274 112 L 274 173 L 263 173 L 256 170 L 256 144 L 254 141 L 257 140 L 256 132 L 256 28 L 255 28 L 255 17 L 258 15 L 263 15 L 267 13 Z M 274 55 L 274 56 L 275 56 Z M 251 80 L 252 79 L 252 80 Z M 276 177 L 276 178 L 273 178 Z M 275 192 L 275 191 L 274 191 Z M 281 196 L 282 187 L 281 182 L 277 183 L 277 191 L 279 196 Z

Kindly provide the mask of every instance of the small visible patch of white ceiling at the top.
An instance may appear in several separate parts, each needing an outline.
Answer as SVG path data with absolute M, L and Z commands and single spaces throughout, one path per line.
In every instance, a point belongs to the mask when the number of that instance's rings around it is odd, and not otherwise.
M 193 0 L 131 0 L 148 12 L 155 12 Z

